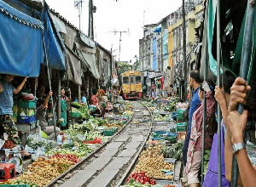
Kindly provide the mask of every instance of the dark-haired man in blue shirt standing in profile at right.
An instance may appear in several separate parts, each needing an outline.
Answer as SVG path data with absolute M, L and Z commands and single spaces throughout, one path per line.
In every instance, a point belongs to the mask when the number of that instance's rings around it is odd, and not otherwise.
M 186 166 L 187 163 L 187 153 L 189 148 L 189 139 L 190 139 L 190 133 L 191 133 L 191 122 L 192 122 L 192 116 L 196 109 L 198 108 L 198 105 L 201 104 L 201 100 L 198 96 L 198 90 L 200 87 L 200 73 L 199 71 L 190 71 L 189 72 L 189 87 L 193 88 L 193 98 L 191 100 L 190 108 L 189 108 L 189 130 L 186 134 L 186 139 L 183 144 L 183 165 Z

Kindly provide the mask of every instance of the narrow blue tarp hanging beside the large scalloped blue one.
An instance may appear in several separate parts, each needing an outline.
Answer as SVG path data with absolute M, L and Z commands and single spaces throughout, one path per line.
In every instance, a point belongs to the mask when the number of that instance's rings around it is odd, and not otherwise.
M 44 40 L 49 67 L 55 70 L 66 71 L 66 48 L 59 32 L 56 31 L 55 26 L 49 17 L 49 7 L 46 3 L 44 3 L 42 21 L 44 22 Z M 46 60 L 44 61 L 44 65 L 47 65 Z

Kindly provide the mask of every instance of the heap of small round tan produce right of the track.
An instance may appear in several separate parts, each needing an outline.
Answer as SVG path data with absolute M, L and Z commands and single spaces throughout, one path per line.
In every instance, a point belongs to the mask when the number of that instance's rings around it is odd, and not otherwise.
M 174 166 L 172 163 L 165 162 L 164 156 L 160 156 L 160 150 L 160 144 L 151 144 L 147 150 L 143 150 L 135 167 L 135 172 L 146 173 L 149 178 L 172 180 L 172 174 L 166 174 L 162 170 L 172 172 Z

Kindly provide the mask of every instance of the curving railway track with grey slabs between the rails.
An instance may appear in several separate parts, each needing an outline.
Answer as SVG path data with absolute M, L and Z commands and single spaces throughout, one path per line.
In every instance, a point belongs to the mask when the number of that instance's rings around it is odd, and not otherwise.
M 80 161 L 49 187 L 119 186 L 134 167 L 152 130 L 151 113 L 138 101 L 133 117 L 105 144 Z

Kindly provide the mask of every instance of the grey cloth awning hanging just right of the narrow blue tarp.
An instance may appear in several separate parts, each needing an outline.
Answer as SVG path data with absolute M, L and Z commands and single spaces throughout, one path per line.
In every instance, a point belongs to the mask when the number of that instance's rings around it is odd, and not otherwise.
M 77 85 L 82 85 L 81 59 L 77 54 L 67 47 L 67 71 L 64 80 L 71 81 Z

